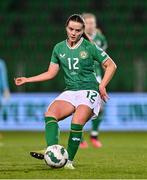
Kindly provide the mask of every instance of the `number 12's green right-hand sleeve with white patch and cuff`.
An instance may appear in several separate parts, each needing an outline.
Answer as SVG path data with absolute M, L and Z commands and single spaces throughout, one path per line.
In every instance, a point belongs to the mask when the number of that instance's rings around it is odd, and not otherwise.
M 98 61 L 99 63 L 104 63 L 109 58 L 108 54 L 96 44 L 92 45 L 92 54 L 94 60 Z

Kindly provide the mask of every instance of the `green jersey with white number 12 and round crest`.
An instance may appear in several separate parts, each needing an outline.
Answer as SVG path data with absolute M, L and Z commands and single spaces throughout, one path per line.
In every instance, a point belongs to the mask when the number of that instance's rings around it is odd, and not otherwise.
M 67 40 L 58 43 L 53 50 L 51 63 L 63 68 L 66 90 L 96 90 L 94 61 L 104 62 L 108 55 L 95 44 L 81 38 L 75 47 Z

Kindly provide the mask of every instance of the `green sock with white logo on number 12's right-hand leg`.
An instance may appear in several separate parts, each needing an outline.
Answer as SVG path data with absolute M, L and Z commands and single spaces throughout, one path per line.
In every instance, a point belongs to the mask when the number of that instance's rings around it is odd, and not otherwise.
M 77 153 L 79 144 L 81 142 L 83 125 L 71 124 L 71 131 L 68 140 L 68 155 L 69 160 L 72 161 Z

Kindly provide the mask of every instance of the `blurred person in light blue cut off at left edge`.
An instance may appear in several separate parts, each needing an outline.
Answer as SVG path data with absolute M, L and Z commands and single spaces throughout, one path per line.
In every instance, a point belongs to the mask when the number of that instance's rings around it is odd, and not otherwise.
M 7 77 L 7 68 L 5 61 L 0 59 L 0 108 L 5 106 L 5 100 L 10 96 L 9 86 L 8 86 L 8 77 Z M 1 120 L 1 116 L 0 116 Z M 2 134 L 0 134 L 0 139 Z M 2 143 L 0 143 L 2 145 Z

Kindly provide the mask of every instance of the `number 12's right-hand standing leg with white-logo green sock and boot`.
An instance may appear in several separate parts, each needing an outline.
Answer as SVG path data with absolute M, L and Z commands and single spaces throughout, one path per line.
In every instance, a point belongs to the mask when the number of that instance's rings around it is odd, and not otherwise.
M 91 115 L 92 109 L 87 105 L 79 105 L 73 115 L 67 148 L 69 161 L 65 165 L 65 168 L 74 169 L 72 162 L 81 142 L 83 126 Z

